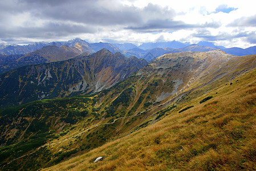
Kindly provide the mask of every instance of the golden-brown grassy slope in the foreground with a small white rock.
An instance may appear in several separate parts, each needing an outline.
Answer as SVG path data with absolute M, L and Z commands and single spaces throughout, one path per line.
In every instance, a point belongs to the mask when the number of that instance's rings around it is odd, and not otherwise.
M 155 124 L 45 170 L 255 170 L 255 78 L 250 71 Z M 99 156 L 104 160 L 94 163 Z

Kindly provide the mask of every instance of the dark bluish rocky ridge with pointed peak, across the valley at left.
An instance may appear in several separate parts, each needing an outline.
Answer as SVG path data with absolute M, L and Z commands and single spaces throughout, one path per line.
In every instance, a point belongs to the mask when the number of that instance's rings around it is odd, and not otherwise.
M 0 75 L 0 105 L 99 92 L 147 64 L 144 59 L 102 49 L 62 62 L 23 66 Z

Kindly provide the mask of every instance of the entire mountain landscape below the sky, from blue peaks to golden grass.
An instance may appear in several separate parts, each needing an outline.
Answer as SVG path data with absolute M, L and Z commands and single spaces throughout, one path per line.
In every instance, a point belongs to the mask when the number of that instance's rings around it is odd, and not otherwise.
M 1 48 L 0 170 L 256 169 L 255 47 Z

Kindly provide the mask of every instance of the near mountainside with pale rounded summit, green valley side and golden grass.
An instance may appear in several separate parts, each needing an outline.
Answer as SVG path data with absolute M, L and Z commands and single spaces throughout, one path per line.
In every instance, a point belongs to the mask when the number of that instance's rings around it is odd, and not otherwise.
M 220 50 L 165 54 L 90 97 L 1 109 L 3 169 L 39 169 L 83 153 L 49 169 L 246 169 L 255 156 L 255 59 Z M 18 148 L 21 141 L 32 146 Z M 235 164 L 229 150 L 242 154 Z

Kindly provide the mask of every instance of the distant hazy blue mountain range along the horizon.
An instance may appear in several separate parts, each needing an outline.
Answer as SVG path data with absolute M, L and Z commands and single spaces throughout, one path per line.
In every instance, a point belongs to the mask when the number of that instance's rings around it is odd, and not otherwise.
M 99 51 L 102 48 L 107 48 L 112 53 L 115 52 L 121 52 L 121 54 L 127 56 L 136 56 L 137 58 L 144 58 L 144 59 L 155 59 L 153 55 L 153 58 L 149 58 L 150 54 L 147 54 L 149 51 L 153 50 L 154 48 L 174 48 L 180 51 L 210 51 L 210 50 L 216 50 L 220 49 L 222 51 L 227 52 L 231 55 L 237 55 L 237 56 L 243 56 L 243 55 L 252 55 L 256 53 L 256 47 L 249 47 L 249 48 L 238 48 L 238 47 L 231 47 L 231 48 L 225 48 L 224 46 L 215 46 L 213 42 L 205 42 L 201 41 L 197 44 L 189 44 L 189 43 L 181 43 L 178 41 L 173 40 L 172 42 L 156 42 L 156 43 L 143 43 L 140 44 L 140 46 L 136 46 L 132 43 L 88 43 L 86 40 L 82 40 L 80 38 L 68 40 L 67 42 L 35 42 L 29 45 L 19 46 L 17 44 L 13 45 L 6 45 L 1 44 L 0 46 L 0 54 L 2 55 L 15 55 L 15 54 L 28 54 L 30 52 L 40 50 L 44 46 L 69 46 L 74 47 L 76 43 L 82 44 L 84 46 L 83 48 L 86 49 L 86 51 L 89 54 L 92 54 L 93 52 Z M 192 49 L 191 46 L 198 46 L 197 48 Z M 164 50 L 162 50 L 164 51 Z M 165 53 L 165 52 L 164 52 Z M 163 54 L 161 54 L 163 55 Z

